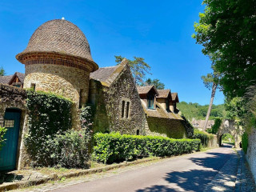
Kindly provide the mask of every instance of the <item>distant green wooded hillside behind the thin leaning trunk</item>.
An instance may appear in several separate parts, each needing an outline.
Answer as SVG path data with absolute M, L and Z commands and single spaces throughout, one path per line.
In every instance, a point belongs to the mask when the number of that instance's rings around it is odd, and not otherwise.
M 182 111 L 182 114 L 184 114 L 186 118 L 190 120 L 192 120 L 192 118 L 195 118 L 198 120 L 199 119 L 205 120 L 209 105 L 201 106 L 198 103 L 179 102 L 177 103 L 177 107 L 180 111 Z M 226 110 L 223 104 L 212 106 L 210 119 L 225 118 L 225 116 L 226 116 Z

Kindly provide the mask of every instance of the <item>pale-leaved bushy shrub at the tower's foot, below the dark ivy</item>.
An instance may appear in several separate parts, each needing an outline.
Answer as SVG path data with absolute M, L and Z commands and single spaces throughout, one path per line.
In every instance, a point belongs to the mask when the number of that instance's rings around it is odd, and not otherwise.
M 50 166 L 86 167 L 86 162 L 89 160 L 86 136 L 86 130 L 67 130 L 55 134 L 54 137 L 48 135 L 46 145 L 51 149 Z

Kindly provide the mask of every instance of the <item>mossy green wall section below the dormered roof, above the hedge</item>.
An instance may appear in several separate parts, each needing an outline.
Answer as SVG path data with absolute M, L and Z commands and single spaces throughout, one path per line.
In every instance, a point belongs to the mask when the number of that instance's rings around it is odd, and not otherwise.
M 169 138 L 186 138 L 185 126 L 182 120 L 170 118 L 146 118 L 150 135 L 159 135 Z

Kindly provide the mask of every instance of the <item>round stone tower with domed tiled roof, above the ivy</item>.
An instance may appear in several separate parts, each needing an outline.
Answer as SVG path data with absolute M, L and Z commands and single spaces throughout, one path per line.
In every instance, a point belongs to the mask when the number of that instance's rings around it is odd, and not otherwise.
M 16 58 L 25 64 L 24 88 L 62 95 L 77 107 L 86 103 L 90 72 L 98 70 L 98 65 L 78 26 L 62 19 L 45 22 Z

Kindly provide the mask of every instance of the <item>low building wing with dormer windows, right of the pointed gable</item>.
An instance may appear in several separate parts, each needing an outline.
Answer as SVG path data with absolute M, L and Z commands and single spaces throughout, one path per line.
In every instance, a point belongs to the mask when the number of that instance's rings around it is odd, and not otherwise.
M 186 138 L 183 118 L 170 110 L 170 90 L 156 90 L 154 86 L 138 86 L 138 94 L 146 114 L 146 134 L 169 138 Z

